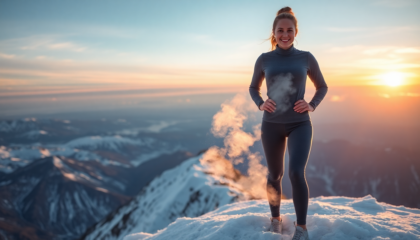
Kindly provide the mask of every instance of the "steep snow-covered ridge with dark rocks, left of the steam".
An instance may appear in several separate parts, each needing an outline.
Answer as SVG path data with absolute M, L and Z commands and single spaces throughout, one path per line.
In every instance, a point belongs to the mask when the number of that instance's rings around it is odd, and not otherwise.
M 190 158 L 163 172 L 126 206 L 97 223 L 81 239 L 121 240 L 134 232 L 156 232 L 178 217 L 200 216 L 219 206 L 250 198 L 235 187 L 234 179 L 206 173 L 199 158 Z M 233 175 L 240 175 L 234 171 Z

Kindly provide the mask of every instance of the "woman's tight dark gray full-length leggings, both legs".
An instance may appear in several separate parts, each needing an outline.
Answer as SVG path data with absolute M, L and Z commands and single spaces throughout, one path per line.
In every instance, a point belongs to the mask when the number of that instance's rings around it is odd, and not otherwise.
M 284 174 L 286 137 L 289 146 L 289 178 L 297 224 L 306 224 L 309 189 L 305 167 L 312 145 L 311 120 L 294 123 L 272 123 L 262 120 L 261 141 L 268 166 L 267 193 L 271 216 L 280 216 L 281 178 Z M 272 190 L 275 191 L 272 191 Z

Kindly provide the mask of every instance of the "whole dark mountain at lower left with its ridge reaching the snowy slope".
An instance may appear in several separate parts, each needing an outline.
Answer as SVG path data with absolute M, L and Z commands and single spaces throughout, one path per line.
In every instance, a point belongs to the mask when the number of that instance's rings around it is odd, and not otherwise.
M 16 160 L 10 157 L 9 149 L 16 150 L 2 147 L 5 151 L 0 153 Z M 19 232 L 29 228 L 37 229 L 37 235 L 45 240 L 80 237 L 92 224 L 131 200 L 157 174 L 191 157 L 188 152 L 162 154 L 139 167 L 126 167 L 121 166 L 123 163 L 107 165 L 92 158 L 74 158 L 79 153 L 95 154 L 87 150 L 73 149 L 75 154 L 70 158 L 56 156 L 53 149 L 25 150 L 35 156 L 41 152 L 50 156 L 34 159 L 0 178 L 0 221 L 8 219 L 8 225 L 0 222 L 0 232 L 8 229 L 11 240 L 20 239 L 16 238 Z

